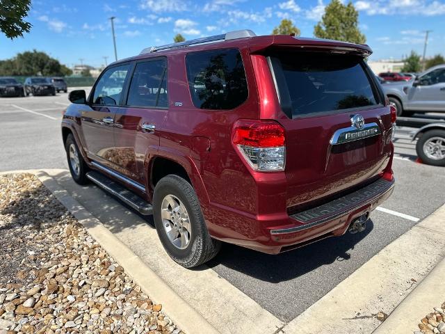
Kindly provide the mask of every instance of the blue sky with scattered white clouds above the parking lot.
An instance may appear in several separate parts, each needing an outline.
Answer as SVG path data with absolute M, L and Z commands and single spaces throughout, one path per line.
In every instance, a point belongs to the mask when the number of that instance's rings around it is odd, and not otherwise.
M 269 34 L 284 17 L 302 36 L 311 37 L 327 0 L 33 0 L 31 33 L 13 41 L 0 36 L 0 59 L 30 49 L 45 51 L 61 63 L 100 66 L 114 60 L 111 26 L 115 16 L 118 58 L 150 45 L 237 29 Z M 374 54 L 371 59 L 421 54 L 425 30 L 432 30 L 427 56 L 445 55 L 445 0 L 359 0 L 359 24 Z

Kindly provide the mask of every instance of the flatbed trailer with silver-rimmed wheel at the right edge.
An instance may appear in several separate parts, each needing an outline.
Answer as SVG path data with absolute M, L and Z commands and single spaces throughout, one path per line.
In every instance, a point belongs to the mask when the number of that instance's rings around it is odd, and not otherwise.
M 396 127 L 414 128 L 410 138 L 417 139 L 417 157 L 424 164 L 445 166 L 445 116 L 398 117 Z

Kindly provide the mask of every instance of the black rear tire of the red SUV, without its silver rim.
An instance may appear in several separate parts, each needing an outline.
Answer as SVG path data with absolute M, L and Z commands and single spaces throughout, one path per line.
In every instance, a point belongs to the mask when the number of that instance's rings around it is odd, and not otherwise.
M 175 196 L 182 202 L 191 223 L 190 241 L 184 249 L 179 249 L 172 244 L 172 241 L 167 236 L 167 232 L 165 232 L 161 218 L 161 205 L 165 196 L 168 195 Z M 210 237 L 195 190 L 182 177 L 167 175 L 156 184 L 153 196 L 153 216 L 156 231 L 165 251 L 172 260 L 182 267 L 197 267 L 218 254 L 221 242 Z

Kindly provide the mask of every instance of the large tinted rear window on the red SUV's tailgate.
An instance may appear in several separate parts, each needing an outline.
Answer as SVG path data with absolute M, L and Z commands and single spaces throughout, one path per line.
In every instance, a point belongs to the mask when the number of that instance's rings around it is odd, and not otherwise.
M 275 77 L 284 81 L 277 79 L 280 102 L 293 117 L 378 104 L 358 56 L 288 52 L 271 59 Z

